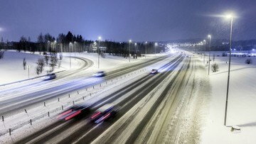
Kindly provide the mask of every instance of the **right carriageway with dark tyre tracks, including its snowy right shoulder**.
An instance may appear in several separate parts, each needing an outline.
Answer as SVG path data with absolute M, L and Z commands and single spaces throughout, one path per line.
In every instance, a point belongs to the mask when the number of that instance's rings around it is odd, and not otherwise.
M 49 134 L 44 134 L 43 138 L 41 136 L 38 140 L 34 138 L 31 138 L 31 140 L 36 143 L 45 142 L 46 140 L 48 143 L 89 143 L 95 138 L 93 143 L 102 143 L 103 141 L 109 143 L 192 141 L 186 138 L 183 132 L 190 131 L 193 135 L 198 135 L 199 131 L 195 132 L 191 131 L 191 128 L 181 127 L 187 123 L 195 122 L 192 121 L 194 118 L 185 121 L 184 117 L 188 116 L 188 106 L 194 101 L 191 92 L 196 91 L 195 84 L 193 84 L 195 83 L 195 77 L 193 76 L 196 71 L 195 67 L 198 67 L 196 63 L 193 57 L 185 57 L 184 60 L 177 59 L 176 62 L 169 62 L 169 65 L 172 65 L 171 67 L 164 65 L 162 62 L 160 65 L 163 65 L 163 67 L 159 67 L 161 69 L 159 76 L 155 75 L 154 77 L 149 77 L 146 74 L 147 72 L 145 73 L 143 70 L 139 71 L 142 72 L 139 74 L 139 77 L 142 77 L 139 81 L 138 75 L 134 77 L 134 74 L 133 80 L 129 76 L 129 79 L 131 79 L 129 81 L 132 82 L 130 87 L 133 86 L 131 89 L 127 86 L 130 82 L 122 84 L 122 87 L 127 87 L 124 92 L 115 97 L 112 94 L 113 89 L 109 90 L 111 97 L 114 97 L 114 99 L 100 103 L 112 102 L 122 106 L 116 118 L 98 125 L 93 125 L 87 118 L 81 121 L 69 121 L 64 127 L 53 128 L 54 131 L 46 132 L 46 130 L 43 130 L 44 133 Z M 128 76 L 122 79 L 128 79 Z M 105 89 L 109 88 L 106 87 Z M 117 87 L 114 87 L 114 89 L 117 89 Z M 117 99 L 117 97 L 119 98 Z M 193 111 L 193 113 L 195 112 Z M 25 140 L 28 140 L 28 138 L 25 138 Z M 183 138 L 186 138 L 186 140 Z M 19 143 L 24 143 L 24 141 L 19 141 Z

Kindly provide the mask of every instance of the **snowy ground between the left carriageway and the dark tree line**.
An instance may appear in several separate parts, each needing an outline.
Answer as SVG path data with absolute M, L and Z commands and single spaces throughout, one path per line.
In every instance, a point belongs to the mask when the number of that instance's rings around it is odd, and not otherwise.
M 100 57 L 100 69 L 98 69 L 97 53 L 76 52 L 70 54 L 69 52 L 64 52 L 60 68 L 56 67 L 53 72 L 69 70 L 70 61 L 71 69 L 80 67 L 80 61 L 73 58 L 75 56 L 85 57 L 94 62 L 94 65 L 90 67 L 90 70 L 87 70 L 89 72 L 112 70 L 114 68 L 122 67 L 124 65 L 133 65 L 134 62 L 141 62 L 155 57 L 154 55 L 146 55 L 146 58 L 130 58 L 131 62 L 129 62 L 128 58 L 106 55 L 105 58 Z M 156 55 L 156 57 L 159 57 L 159 55 Z M 23 70 L 23 58 L 26 59 L 26 65 L 30 65 L 29 78 L 45 75 L 48 70 L 50 70 L 49 67 L 45 67 L 42 74 L 36 74 L 36 62 L 38 61 L 38 58 L 43 58 L 43 55 L 39 55 L 39 52 L 36 52 L 34 55 L 31 54 L 31 52 L 16 52 L 16 50 L 9 50 L 4 52 L 4 59 L 0 60 L 0 85 L 28 79 L 28 67 L 26 67 L 26 70 Z M 129 64 L 127 64 L 127 62 L 129 62 Z

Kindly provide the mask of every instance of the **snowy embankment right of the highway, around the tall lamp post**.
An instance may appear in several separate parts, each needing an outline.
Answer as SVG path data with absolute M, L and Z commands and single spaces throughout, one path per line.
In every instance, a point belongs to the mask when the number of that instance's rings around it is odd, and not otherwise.
M 224 126 L 229 57 L 222 57 L 222 52 L 213 54 L 220 55 L 211 62 L 219 65 L 219 71 L 210 72 L 210 109 L 203 115 L 206 122 L 202 126 L 201 143 L 255 143 L 256 57 L 231 57 L 227 126 Z M 245 64 L 247 59 L 252 64 Z M 241 130 L 231 131 L 230 126 L 239 126 Z

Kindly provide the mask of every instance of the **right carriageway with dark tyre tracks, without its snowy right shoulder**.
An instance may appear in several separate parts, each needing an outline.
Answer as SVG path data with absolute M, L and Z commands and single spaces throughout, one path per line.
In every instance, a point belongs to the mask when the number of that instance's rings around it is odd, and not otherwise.
M 173 121 L 171 118 L 177 115 L 177 109 L 182 107 L 182 111 L 178 110 L 180 113 L 177 116 L 182 116 L 183 111 L 186 110 L 186 106 L 183 106 L 184 96 L 182 94 L 188 81 L 191 81 L 190 77 L 193 72 L 193 65 L 195 65 L 191 59 L 193 58 L 184 55 L 169 55 L 161 58 L 158 60 L 161 61 L 159 74 L 144 74 L 132 84 L 125 85 L 122 89 L 115 89 L 108 96 L 95 102 L 92 105 L 92 112 L 108 103 L 121 107 L 117 116 L 110 121 L 99 124 L 92 123 L 89 118 L 92 114 L 90 113 L 79 120 L 57 121 L 41 129 L 41 131 L 33 133 L 33 135 L 28 135 L 17 143 L 119 143 L 120 141 L 124 143 L 152 141 L 161 143 L 163 141 L 158 138 L 164 135 L 161 132 L 169 124 L 169 121 Z M 149 62 L 135 68 L 124 68 L 123 72 L 117 70 L 108 74 L 106 79 L 137 70 L 138 67 L 142 68 L 145 65 L 149 65 Z M 187 96 L 186 101 L 189 99 L 190 97 Z M 140 106 L 137 107 L 137 105 Z M 140 116 L 139 113 L 143 113 L 143 116 Z M 159 116 L 163 118 L 157 118 Z M 161 126 L 157 126 L 156 130 L 152 131 L 156 126 L 154 123 L 159 123 L 159 121 L 161 121 Z M 129 130 L 131 123 L 136 125 L 133 130 Z M 178 126 L 177 121 L 174 123 Z M 122 133 L 124 131 L 129 134 Z M 156 131 L 159 131 L 157 135 Z M 152 136 L 153 133 L 154 136 Z M 178 130 L 172 133 L 178 135 Z M 175 139 L 176 137 L 172 140 Z

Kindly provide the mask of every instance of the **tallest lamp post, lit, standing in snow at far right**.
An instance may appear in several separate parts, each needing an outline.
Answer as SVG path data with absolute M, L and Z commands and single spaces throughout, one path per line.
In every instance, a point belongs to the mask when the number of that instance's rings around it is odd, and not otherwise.
M 230 79 L 230 61 L 231 61 L 231 44 L 232 44 L 232 31 L 233 31 L 233 16 L 227 16 L 231 19 L 230 23 L 230 48 L 229 48 L 229 61 L 228 61 L 228 86 L 227 86 L 227 95 L 226 95 L 226 102 L 225 102 L 225 120 L 224 120 L 224 126 L 226 126 L 226 120 L 227 120 L 227 111 L 228 111 L 228 89 L 229 89 L 229 79 Z

